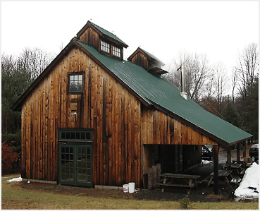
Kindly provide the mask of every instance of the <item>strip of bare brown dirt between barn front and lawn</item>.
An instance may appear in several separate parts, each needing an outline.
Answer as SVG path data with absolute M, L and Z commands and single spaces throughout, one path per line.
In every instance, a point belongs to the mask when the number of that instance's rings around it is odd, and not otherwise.
M 26 181 L 16 182 L 16 184 L 13 185 L 20 186 L 20 188 L 25 190 L 44 191 L 64 195 L 82 195 L 94 198 L 120 198 L 125 200 L 180 200 L 187 195 L 188 190 L 187 188 L 166 188 L 164 192 L 161 192 L 161 188 L 156 188 L 152 191 L 123 193 L 123 191 L 120 190 L 63 186 L 49 183 L 27 183 Z M 214 195 L 213 188 L 206 188 L 206 184 L 199 184 L 197 189 L 192 188 L 189 198 L 194 202 L 217 202 L 221 200 L 230 200 L 228 190 L 225 190 L 224 186 L 220 194 Z

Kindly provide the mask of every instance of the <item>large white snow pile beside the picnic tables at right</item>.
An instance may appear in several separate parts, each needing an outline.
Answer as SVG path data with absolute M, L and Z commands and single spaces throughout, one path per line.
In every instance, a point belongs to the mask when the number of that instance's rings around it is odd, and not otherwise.
M 259 198 L 259 165 L 254 162 L 244 174 L 240 186 L 235 190 L 235 200 Z

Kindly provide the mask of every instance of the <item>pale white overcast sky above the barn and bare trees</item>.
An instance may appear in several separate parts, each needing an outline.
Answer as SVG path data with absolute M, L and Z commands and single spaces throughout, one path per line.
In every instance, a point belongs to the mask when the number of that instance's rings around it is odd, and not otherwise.
M 58 54 L 91 20 L 166 65 L 179 52 L 204 54 L 231 71 L 237 53 L 259 43 L 258 1 L 2 1 L 1 53 L 39 47 Z

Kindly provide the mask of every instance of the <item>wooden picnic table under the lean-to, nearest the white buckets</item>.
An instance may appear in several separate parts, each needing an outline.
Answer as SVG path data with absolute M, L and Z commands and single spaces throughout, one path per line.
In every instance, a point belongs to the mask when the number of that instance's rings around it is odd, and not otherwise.
M 188 187 L 190 189 L 187 192 L 187 194 L 190 194 L 191 188 L 197 188 L 196 179 L 200 177 L 199 175 L 169 174 L 169 173 L 160 174 L 160 176 L 163 177 L 163 183 L 157 183 L 157 185 L 162 186 L 161 192 L 164 191 L 164 188 L 166 186 Z

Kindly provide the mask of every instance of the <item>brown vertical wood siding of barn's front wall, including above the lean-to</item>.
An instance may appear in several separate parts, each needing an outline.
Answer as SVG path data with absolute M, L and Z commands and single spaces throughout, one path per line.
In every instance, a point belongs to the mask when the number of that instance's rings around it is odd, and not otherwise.
M 83 37 L 87 34 L 83 34 Z M 68 95 L 68 73 L 83 72 L 82 95 Z M 73 116 L 72 107 L 77 106 Z M 144 144 L 215 144 L 140 101 L 79 49 L 71 49 L 22 107 L 22 177 L 58 181 L 58 128 L 93 128 L 94 184 L 142 185 Z

